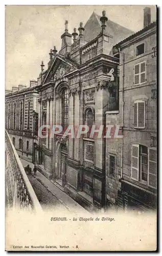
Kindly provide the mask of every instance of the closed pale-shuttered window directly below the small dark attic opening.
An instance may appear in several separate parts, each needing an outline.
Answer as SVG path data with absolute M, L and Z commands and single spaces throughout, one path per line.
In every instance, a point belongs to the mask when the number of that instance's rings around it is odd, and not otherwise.
M 146 82 L 146 61 L 134 65 L 134 84 Z

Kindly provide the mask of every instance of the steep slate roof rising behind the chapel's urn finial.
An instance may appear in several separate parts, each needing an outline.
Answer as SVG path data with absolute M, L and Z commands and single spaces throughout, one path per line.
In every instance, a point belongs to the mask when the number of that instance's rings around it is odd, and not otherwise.
M 96 38 L 101 32 L 101 22 L 100 17 L 95 12 L 92 13 L 90 18 L 88 19 L 87 23 L 84 26 L 84 36 L 83 39 L 87 42 L 91 41 L 92 39 Z M 106 22 L 106 34 L 110 34 L 113 36 L 112 44 L 115 45 L 119 41 L 125 39 L 126 37 L 130 36 L 134 32 L 115 23 L 112 20 L 108 19 Z

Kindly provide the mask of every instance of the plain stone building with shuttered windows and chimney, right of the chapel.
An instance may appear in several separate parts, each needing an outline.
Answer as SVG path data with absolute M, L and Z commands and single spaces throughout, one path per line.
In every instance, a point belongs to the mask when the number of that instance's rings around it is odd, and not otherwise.
M 107 145 L 106 193 L 110 202 L 156 208 L 156 22 L 144 9 L 144 29 L 113 48 L 120 55 L 118 123 L 123 140 Z M 114 114 L 115 115 L 115 114 Z

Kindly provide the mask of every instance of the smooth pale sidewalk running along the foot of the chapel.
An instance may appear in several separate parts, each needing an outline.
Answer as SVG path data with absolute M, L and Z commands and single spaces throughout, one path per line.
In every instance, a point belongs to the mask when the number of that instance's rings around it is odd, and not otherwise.
M 32 164 L 24 159 L 20 159 L 20 160 L 24 167 L 27 166 L 27 164 L 29 164 L 33 170 L 34 164 Z M 49 188 L 49 190 L 51 190 L 53 192 L 53 194 L 56 195 L 56 197 L 59 198 L 71 212 L 76 212 L 76 214 L 78 214 L 79 212 L 82 214 L 87 214 L 87 212 L 88 212 L 87 210 L 85 210 L 80 204 L 78 204 L 70 196 L 68 196 L 61 189 L 59 189 L 55 184 L 53 184 L 44 175 L 39 173 L 38 170 L 37 170 L 36 178 L 39 179 L 45 186 L 47 186 Z

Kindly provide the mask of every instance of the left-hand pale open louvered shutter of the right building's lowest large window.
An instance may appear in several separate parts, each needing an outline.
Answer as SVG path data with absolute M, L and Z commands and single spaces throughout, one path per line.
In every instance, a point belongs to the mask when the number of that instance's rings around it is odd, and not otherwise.
M 131 150 L 131 179 L 137 180 L 139 178 L 139 145 L 132 144 Z

